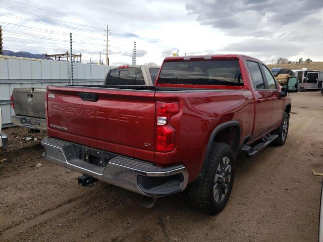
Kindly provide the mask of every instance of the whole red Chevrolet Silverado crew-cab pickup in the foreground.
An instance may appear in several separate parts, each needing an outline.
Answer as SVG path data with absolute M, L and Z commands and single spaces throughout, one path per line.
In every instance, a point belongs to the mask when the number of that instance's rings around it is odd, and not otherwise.
M 245 55 L 167 57 L 154 87 L 48 86 L 42 140 L 46 160 L 143 195 L 188 187 L 216 214 L 233 185 L 237 154 L 253 155 L 287 138 L 297 78 L 277 84 Z

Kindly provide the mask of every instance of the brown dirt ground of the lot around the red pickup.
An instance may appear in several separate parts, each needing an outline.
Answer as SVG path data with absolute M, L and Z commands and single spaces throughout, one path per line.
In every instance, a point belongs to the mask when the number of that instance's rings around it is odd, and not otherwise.
M 323 171 L 323 97 L 292 100 L 286 144 L 239 158 L 231 198 L 216 216 L 194 210 L 185 192 L 145 209 L 139 195 L 117 187 L 80 187 L 80 173 L 41 159 L 45 134 L 5 129 L 0 241 L 317 241 L 321 177 L 312 170 Z

